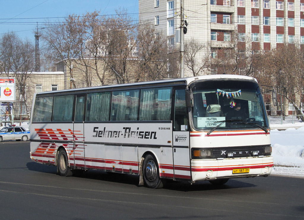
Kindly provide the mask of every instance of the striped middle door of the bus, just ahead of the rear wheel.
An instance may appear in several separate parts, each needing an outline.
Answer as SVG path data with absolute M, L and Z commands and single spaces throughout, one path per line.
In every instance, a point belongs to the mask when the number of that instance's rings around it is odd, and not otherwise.
M 70 151 L 70 160 L 74 159 L 74 167 L 85 168 L 85 145 L 84 145 L 84 115 L 85 95 L 76 95 L 74 114 L 73 145 Z M 71 161 L 72 163 L 72 161 Z

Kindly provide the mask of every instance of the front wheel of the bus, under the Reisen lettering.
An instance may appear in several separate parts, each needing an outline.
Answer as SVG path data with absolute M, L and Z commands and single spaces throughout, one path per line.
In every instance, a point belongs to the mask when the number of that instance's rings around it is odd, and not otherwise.
M 159 189 L 164 186 L 164 180 L 159 177 L 158 164 L 155 161 L 150 154 L 143 160 L 143 181 L 147 187 Z

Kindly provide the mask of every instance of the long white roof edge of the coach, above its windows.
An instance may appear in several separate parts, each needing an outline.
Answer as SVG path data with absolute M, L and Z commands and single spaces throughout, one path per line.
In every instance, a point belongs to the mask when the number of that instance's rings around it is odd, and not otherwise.
M 151 84 L 162 84 L 162 83 L 170 83 L 170 82 L 180 82 L 183 85 L 189 85 L 191 82 L 194 81 L 201 81 L 201 80 L 212 80 L 212 79 L 239 79 L 239 80 L 247 80 L 247 81 L 255 81 L 257 80 L 253 77 L 243 76 L 243 75 L 204 75 L 204 76 L 195 76 L 195 77 L 186 77 L 186 78 L 176 78 L 176 79 L 161 79 L 156 81 L 148 81 L 148 82 L 135 82 L 135 83 L 126 83 L 126 84 L 113 84 L 113 85 L 105 85 L 105 86 L 95 86 L 95 87 L 84 87 L 84 88 L 77 88 L 77 89 L 63 89 L 63 90 L 56 90 L 56 91 L 47 91 L 41 92 L 37 94 L 49 94 L 49 93 L 62 93 L 62 92 L 81 92 L 85 90 L 97 90 L 97 89 L 107 89 L 107 88 L 121 88 L 121 87 L 132 87 L 132 86 L 144 86 L 144 85 L 151 85 Z

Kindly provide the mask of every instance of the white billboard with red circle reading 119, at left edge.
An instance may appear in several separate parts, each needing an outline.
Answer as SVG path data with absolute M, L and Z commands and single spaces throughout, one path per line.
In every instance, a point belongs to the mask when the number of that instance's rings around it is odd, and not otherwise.
M 0 102 L 14 102 L 15 100 L 15 78 L 0 78 Z

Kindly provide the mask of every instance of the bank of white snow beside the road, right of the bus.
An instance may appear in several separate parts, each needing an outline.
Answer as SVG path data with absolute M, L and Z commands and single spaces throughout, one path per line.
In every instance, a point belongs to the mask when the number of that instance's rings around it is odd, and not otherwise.
M 275 129 L 270 134 L 275 163 L 271 174 L 304 177 L 304 127 Z

